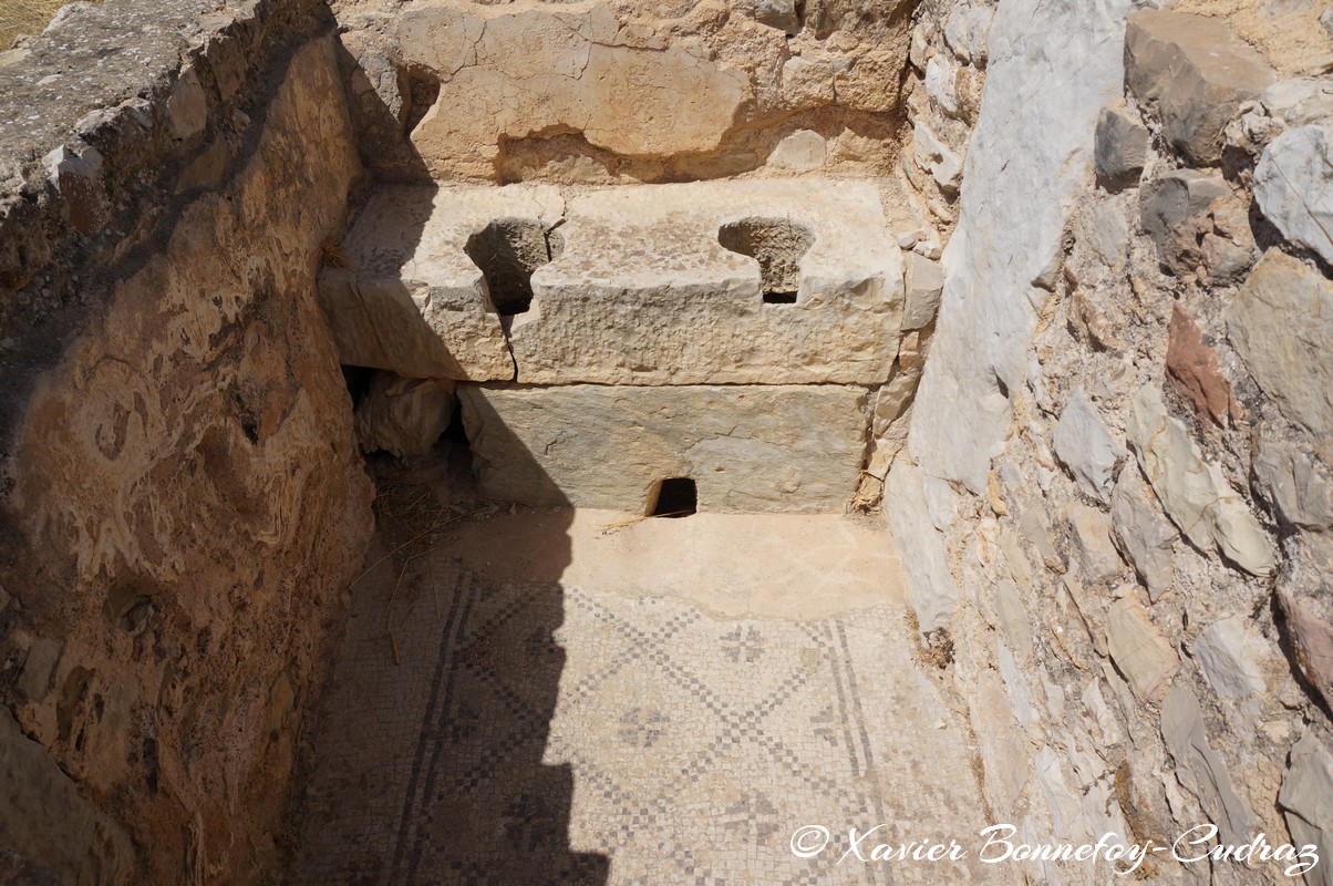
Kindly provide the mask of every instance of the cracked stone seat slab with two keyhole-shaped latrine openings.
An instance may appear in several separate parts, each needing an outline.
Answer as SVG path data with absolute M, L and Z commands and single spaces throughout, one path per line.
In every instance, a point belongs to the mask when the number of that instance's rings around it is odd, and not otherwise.
M 344 363 L 415 378 L 873 386 L 902 314 L 869 181 L 388 187 L 333 258 Z

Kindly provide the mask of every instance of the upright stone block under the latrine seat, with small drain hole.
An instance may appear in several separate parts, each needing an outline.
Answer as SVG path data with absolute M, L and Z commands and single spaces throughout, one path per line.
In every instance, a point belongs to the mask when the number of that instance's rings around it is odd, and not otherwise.
M 841 512 L 865 451 L 866 391 L 842 386 L 460 384 L 487 496 L 643 514 L 668 478 L 700 511 Z

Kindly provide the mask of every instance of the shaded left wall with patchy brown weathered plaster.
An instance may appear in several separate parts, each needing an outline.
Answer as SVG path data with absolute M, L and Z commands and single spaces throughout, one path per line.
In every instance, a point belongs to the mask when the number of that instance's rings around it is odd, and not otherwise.
M 371 528 L 315 295 L 360 164 L 327 17 L 151 12 L 0 69 L 55 119 L 4 139 L 0 843 L 60 882 L 259 882 Z M 99 43 L 139 68 L 76 87 L 61 47 Z

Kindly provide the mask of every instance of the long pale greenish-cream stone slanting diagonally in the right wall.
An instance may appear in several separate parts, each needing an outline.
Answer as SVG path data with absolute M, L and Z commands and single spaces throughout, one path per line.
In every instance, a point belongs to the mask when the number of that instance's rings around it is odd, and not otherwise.
M 1134 395 L 1126 436 L 1168 516 L 1190 542 L 1216 547 L 1252 575 L 1273 571 L 1273 539 L 1221 468 L 1204 462 L 1185 426 L 1166 414 L 1161 391 L 1145 386 Z

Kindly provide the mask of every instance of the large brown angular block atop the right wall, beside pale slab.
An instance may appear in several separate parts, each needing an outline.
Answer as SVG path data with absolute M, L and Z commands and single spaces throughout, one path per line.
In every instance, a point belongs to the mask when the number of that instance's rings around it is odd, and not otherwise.
M 1221 157 L 1222 128 L 1276 75 L 1225 19 L 1140 9 L 1125 28 L 1125 84 L 1156 103 L 1166 140 L 1196 164 Z

